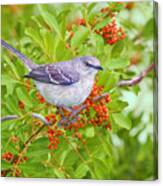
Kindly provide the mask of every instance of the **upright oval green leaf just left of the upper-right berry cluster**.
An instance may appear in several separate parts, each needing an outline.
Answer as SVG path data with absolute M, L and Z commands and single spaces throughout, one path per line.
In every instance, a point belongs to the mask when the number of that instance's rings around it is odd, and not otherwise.
M 85 27 L 80 27 L 78 31 L 75 32 L 71 39 L 71 46 L 73 48 L 80 47 L 80 45 L 87 39 L 89 35 L 89 30 Z

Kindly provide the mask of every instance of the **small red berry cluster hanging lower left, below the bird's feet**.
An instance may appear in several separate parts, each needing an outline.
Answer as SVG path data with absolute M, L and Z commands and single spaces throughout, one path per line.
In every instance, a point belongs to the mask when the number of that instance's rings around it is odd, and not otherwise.
M 50 141 L 48 148 L 50 150 L 56 150 L 58 148 L 58 145 L 60 143 L 59 137 L 62 135 L 63 132 L 59 130 L 57 126 L 54 126 L 53 128 L 48 128 L 48 139 Z

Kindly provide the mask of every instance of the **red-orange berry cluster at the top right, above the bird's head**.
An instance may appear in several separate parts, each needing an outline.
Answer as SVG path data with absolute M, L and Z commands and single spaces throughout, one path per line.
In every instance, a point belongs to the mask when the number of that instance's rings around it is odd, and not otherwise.
M 96 30 L 96 33 L 101 35 L 105 39 L 106 43 L 110 45 L 126 38 L 124 30 L 121 27 L 117 28 L 116 19 L 113 19 L 111 23 L 107 24 L 100 30 Z

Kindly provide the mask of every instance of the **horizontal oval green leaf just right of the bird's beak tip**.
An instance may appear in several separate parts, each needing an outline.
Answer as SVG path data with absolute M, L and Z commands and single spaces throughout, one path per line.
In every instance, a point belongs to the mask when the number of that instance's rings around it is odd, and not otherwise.
M 130 60 L 128 58 L 111 59 L 108 63 L 108 68 L 110 70 L 121 69 L 127 67 L 129 64 Z

